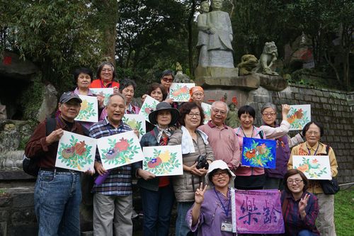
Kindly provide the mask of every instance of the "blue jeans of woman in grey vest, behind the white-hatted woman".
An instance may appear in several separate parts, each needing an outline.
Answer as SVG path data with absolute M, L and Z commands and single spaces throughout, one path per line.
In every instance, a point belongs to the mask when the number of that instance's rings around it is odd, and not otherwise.
M 190 202 L 179 202 L 177 204 L 177 219 L 176 219 L 176 236 L 187 236 L 193 235 L 190 231 L 187 221 L 185 221 L 185 215 L 187 211 L 193 206 L 193 201 Z

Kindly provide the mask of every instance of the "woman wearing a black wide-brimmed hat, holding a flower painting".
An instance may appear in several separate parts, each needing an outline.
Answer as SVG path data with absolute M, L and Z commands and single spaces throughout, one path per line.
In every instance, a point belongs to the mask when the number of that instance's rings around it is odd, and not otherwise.
M 156 110 L 149 114 L 154 130 L 142 136 L 142 147 L 165 146 L 173 134 L 172 125 L 178 120 L 179 112 L 166 102 L 157 104 Z M 156 177 L 142 169 L 140 164 L 137 174 L 142 177 L 137 181 L 142 193 L 144 213 L 143 235 L 169 235 L 171 210 L 174 193 L 169 176 Z

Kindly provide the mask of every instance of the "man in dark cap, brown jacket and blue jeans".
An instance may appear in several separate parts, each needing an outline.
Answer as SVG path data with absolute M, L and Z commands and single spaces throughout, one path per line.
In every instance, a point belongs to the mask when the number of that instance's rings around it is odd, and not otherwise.
M 40 123 L 25 147 L 28 158 L 39 157 L 40 172 L 35 183 L 38 235 L 80 235 L 80 173 L 55 167 L 55 157 L 63 130 L 80 135 L 85 133 L 86 129 L 74 121 L 79 115 L 81 102 L 74 92 L 62 94 L 60 115 Z M 51 126 L 54 131 L 47 135 L 47 127 Z

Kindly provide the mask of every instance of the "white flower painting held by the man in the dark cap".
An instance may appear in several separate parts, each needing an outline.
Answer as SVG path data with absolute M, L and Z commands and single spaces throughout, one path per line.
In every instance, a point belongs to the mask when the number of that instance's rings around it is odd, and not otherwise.
M 96 139 L 64 130 L 59 140 L 55 167 L 79 172 L 93 170 L 95 154 Z

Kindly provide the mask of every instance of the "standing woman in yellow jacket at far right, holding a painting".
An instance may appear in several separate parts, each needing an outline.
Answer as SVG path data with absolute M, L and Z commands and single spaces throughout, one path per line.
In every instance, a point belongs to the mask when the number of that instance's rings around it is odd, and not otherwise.
M 312 121 L 307 123 L 302 129 L 302 135 L 306 138 L 306 142 L 297 145 L 292 148 L 289 163 L 287 169 L 292 169 L 292 158 L 295 155 L 312 155 L 319 156 L 319 159 L 324 158 L 321 156 L 329 156 L 329 162 L 331 164 L 331 176 L 337 175 L 338 164 L 336 161 L 336 155 L 333 149 L 328 145 L 324 145 L 319 142 L 320 138 L 324 135 L 324 128 L 320 123 Z M 334 227 L 333 213 L 334 213 L 334 198 L 333 195 L 326 195 L 321 187 L 319 181 L 309 181 L 309 192 L 319 199 L 319 215 L 316 225 L 321 235 L 336 235 Z

